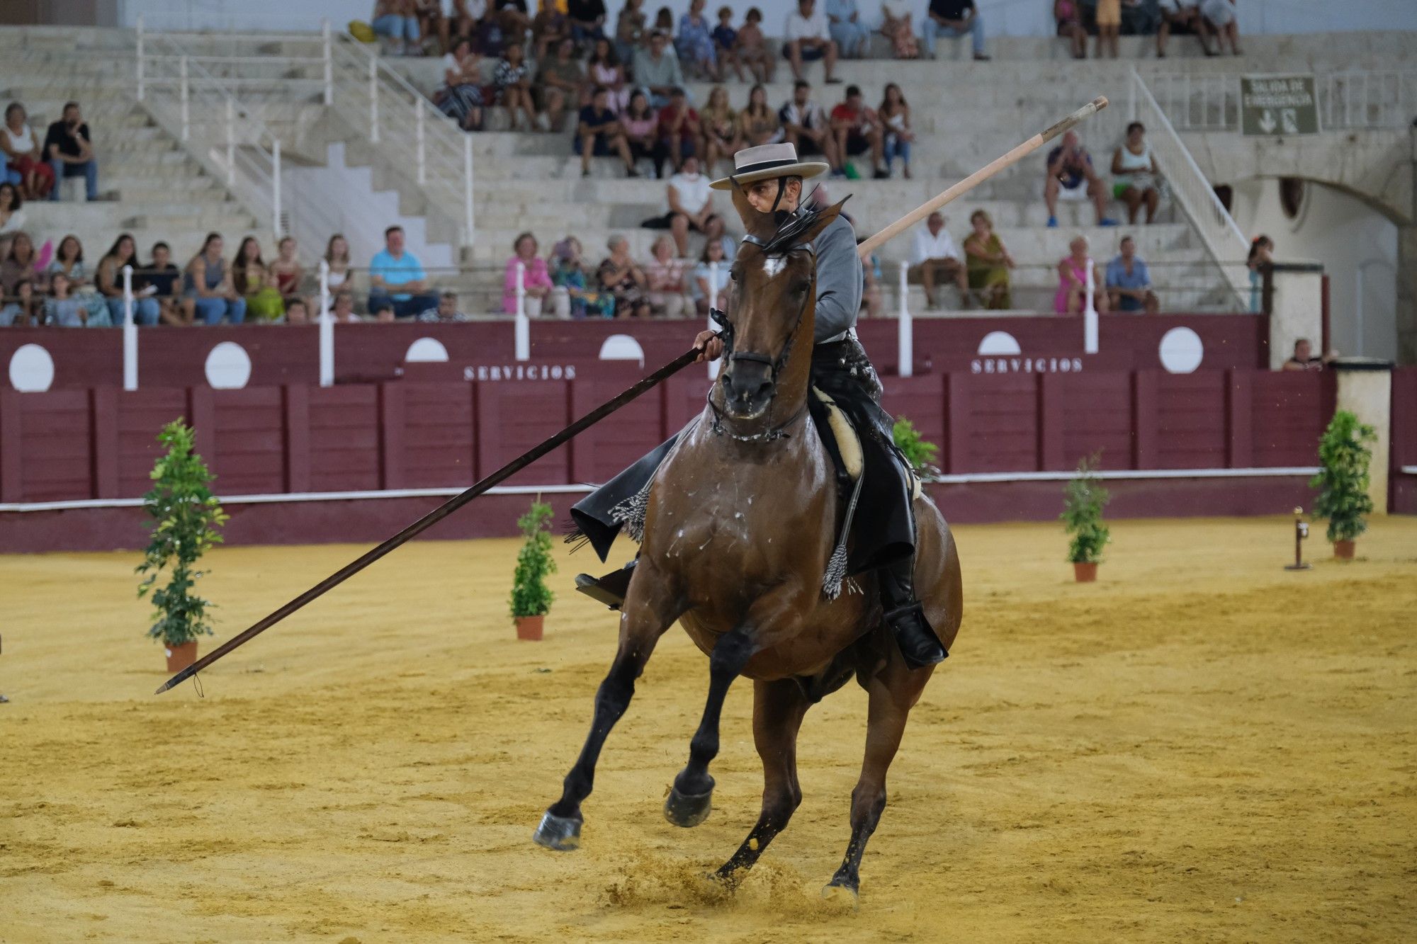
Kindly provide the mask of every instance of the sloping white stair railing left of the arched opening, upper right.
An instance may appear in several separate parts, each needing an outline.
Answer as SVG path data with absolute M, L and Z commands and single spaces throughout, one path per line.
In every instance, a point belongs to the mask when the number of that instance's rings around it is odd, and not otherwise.
M 1146 139 L 1156 157 L 1156 166 L 1170 187 L 1172 200 L 1190 218 L 1206 252 L 1231 288 L 1233 302 L 1243 309 L 1250 291 L 1244 268 L 1250 245 L 1244 234 L 1240 232 L 1240 227 L 1220 203 L 1214 187 L 1200 173 L 1190 150 L 1186 149 L 1166 112 L 1156 103 L 1156 98 L 1142 77 L 1136 74 L 1136 69 L 1132 69 L 1128 103 L 1129 118 L 1146 126 Z

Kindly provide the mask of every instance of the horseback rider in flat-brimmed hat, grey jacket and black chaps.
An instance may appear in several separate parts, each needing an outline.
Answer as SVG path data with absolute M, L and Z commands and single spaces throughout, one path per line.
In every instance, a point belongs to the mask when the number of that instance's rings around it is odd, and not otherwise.
M 752 207 L 777 214 L 781 227 L 802 210 L 803 181 L 828 170 L 830 166 L 823 162 L 798 160 L 792 145 L 762 145 L 735 153 L 733 176 L 713 181 L 711 187 L 743 187 Z M 880 378 L 856 339 L 863 276 L 850 220 L 845 214 L 837 215 L 812 248 L 816 258 L 812 383 L 850 417 L 862 439 L 864 481 L 871 482 L 869 489 L 863 489 L 857 507 L 860 529 L 852 553 L 852 571 L 877 571 L 886 622 L 901 655 L 915 668 L 934 665 L 948 653 L 930 626 L 914 590 L 914 482 L 904 456 L 894 446 L 894 422 L 880 407 Z M 706 330 L 694 339 L 694 347 L 700 350 L 700 361 L 716 360 L 723 354 L 723 339 Z M 615 507 L 642 492 L 676 439 L 663 444 L 571 509 L 578 530 L 589 539 L 601 560 L 605 560 L 622 526 Z M 577 588 L 618 607 L 633 567 L 632 561 L 598 580 L 581 574 Z

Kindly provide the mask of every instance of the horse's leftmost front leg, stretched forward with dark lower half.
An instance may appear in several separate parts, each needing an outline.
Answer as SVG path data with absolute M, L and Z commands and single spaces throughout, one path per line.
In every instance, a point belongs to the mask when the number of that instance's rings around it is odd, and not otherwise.
M 571 772 L 565 775 L 561 798 L 541 816 L 533 833 L 537 845 L 568 850 L 581 845 L 581 802 L 591 795 L 595 782 L 595 763 L 611 729 L 625 714 L 635 695 L 635 679 L 645 670 L 655 644 L 679 618 L 680 604 L 669 590 L 669 580 L 652 566 L 640 563 L 621 612 L 619 649 L 611 670 L 595 692 L 595 716 L 591 733 L 581 747 Z

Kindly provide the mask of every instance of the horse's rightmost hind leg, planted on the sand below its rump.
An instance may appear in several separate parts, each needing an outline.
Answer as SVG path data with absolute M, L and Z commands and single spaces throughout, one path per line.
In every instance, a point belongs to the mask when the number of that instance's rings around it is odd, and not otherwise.
M 886 771 L 905 733 L 910 709 L 920 699 L 931 672 L 932 666 L 911 670 L 894 644 L 887 642 L 884 668 L 864 682 L 870 696 L 866 761 L 862 764 L 856 790 L 852 791 L 852 841 L 846 845 L 842 867 L 822 892 L 825 896 L 832 896 L 836 889 L 845 889 L 854 899 L 860 889 L 862 853 L 866 852 L 866 841 L 876 832 L 876 824 L 886 809 Z

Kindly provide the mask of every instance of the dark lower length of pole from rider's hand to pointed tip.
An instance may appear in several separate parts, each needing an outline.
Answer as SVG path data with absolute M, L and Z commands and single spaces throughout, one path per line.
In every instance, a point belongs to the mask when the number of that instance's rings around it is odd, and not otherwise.
M 485 479 L 482 479 L 480 482 L 478 482 L 472 488 L 466 489 L 465 492 L 456 495 L 455 498 L 444 502 L 442 505 L 439 505 L 434 510 L 428 512 L 428 515 L 424 515 L 421 519 L 418 519 L 417 522 L 414 522 L 412 524 L 410 524 L 404 530 L 398 532 L 397 534 L 394 534 L 393 537 L 390 537 L 387 541 L 384 541 L 378 547 L 374 547 L 371 550 L 364 551 L 356 560 L 350 561 L 344 567 L 340 567 L 337 571 L 334 571 L 333 574 L 330 574 L 329 577 L 326 577 L 320 583 L 315 584 L 313 587 L 310 587 L 309 590 L 306 590 L 303 594 L 300 594 L 299 597 L 296 597 L 290 602 L 285 604 L 283 607 L 281 607 L 279 609 L 276 609 L 271 615 L 268 615 L 268 617 L 256 621 L 249 629 L 241 632 L 239 635 L 232 636 L 231 639 L 227 639 L 220 646 L 217 646 L 215 649 L 213 649 L 211 652 L 208 652 L 203 658 L 197 659 L 196 662 L 193 662 L 190 666 L 187 666 L 186 669 L 183 669 L 181 672 L 179 672 L 173 678 L 170 678 L 166 682 L 163 682 L 162 687 L 159 687 L 156 693 L 162 695 L 163 692 L 166 692 L 167 689 L 173 687 L 174 685 L 179 685 L 179 683 L 190 679 L 191 676 L 197 675 L 198 672 L 201 672 L 208 665 L 211 665 L 213 662 L 215 662 L 221 656 L 227 655 L 228 652 L 231 652 L 237 646 L 239 646 L 239 645 L 242 645 L 242 644 L 254 639 L 255 636 L 261 635 L 262 632 L 265 632 L 266 629 L 269 629 L 275 624 L 281 622 L 282 619 L 285 619 L 286 617 L 289 617 L 292 612 L 295 612 L 296 609 L 299 609 L 305 604 L 310 602 L 312 600 L 315 600 L 317 597 L 324 595 L 326 591 L 333 590 L 334 587 L 339 587 L 346 580 L 349 580 L 350 577 L 353 577 L 359 571 L 364 570 L 366 567 L 368 567 L 370 564 L 373 564 L 376 560 L 378 560 L 384 554 L 387 554 L 391 550 L 400 547 L 401 544 L 404 544 L 408 540 L 417 537 L 418 534 L 422 534 L 429 527 L 432 527 L 438 522 L 444 520 L 445 517 L 448 517 L 449 515 L 452 515 L 453 512 L 456 512 L 458 509 L 461 509 L 463 505 L 466 505 L 472 499 L 478 498 L 483 492 L 486 492 L 486 490 L 492 489 L 493 486 L 496 486 L 496 485 L 504 482 L 506 479 L 512 478 L 513 475 L 516 475 L 517 472 L 520 472 L 526 466 L 529 466 L 533 462 L 536 462 L 537 459 L 540 459 L 547 452 L 551 452 L 557 446 L 564 445 L 572 437 L 575 437 L 580 432 L 584 432 L 589 427 L 595 425 L 597 422 L 599 422 L 601 420 L 604 420 L 609 414 L 615 412 L 616 410 L 619 410 L 621 407 L 623 407 L 625 404 L 628 404 L 631 400 L 635 400 L 636 397 L 639 397 L 640 394 L 643 394 L 650 387 L 657 386 L 660 381 L 663 381 L 670 374 L 679 373 L 680 370 L 683 370 L 684 367 L 687 367 L 689 364 L 691 364 L 694 361 L 694 359 L 697 359 L 697 357 L 699 357 L 699 349 L 697 347 L 691 347 L 691 349 L 686 350 L 683 354 L 680 354 L 679 357 L 673 359 L 672 361 L 669 361 L 667 364 L 665 364 L 663 367 L 660 367 L 655 373 L 649 374 L 648 377 L 640 378 L 633 387 L 631 387 L 629 390 L 621 393 L 614 400 L 601 404 L 595 410 L 591 410 L 588 414 L 585 414 L 584 417 L 581 417 L 580 420 L 577 420 L 575 422 L 572 422 L 571 425 L 568 425 L 565 429 L 561 429 L 560 432 L 557 432 L 550 439 L 541 442 L 537 446 L 533 446 L 531 449 L 529 449 L 527 452 L 519 455 L 516 459 L 512 459 L 512 462 L 507 462 L 504 466 L 502 466 L 500 469 L 497 469 L 492 475 L 486 476 Z

